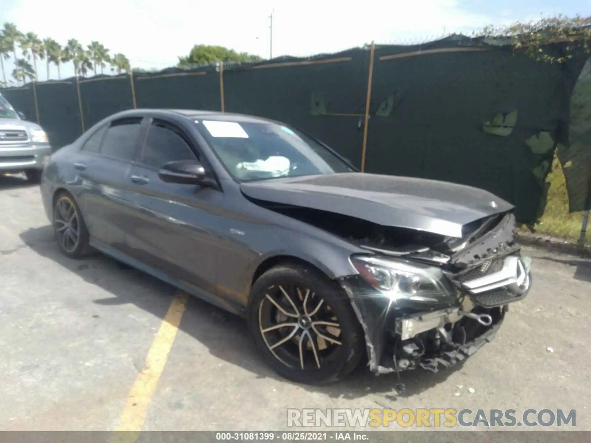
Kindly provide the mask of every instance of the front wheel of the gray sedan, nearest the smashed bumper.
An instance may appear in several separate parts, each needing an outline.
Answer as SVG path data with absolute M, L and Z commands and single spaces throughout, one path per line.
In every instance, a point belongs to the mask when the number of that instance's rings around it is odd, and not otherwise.
M 294 382 L 334 382 L 365 353 L 348 295 L 309 266 L 275 266 L 256 280 L 248 321 L 264 360 Z

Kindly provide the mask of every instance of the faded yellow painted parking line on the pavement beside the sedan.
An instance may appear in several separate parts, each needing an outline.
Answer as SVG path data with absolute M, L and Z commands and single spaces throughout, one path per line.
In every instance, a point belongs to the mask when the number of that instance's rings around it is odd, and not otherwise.
M 137 439 L 137 432 L 141 431 L 144 425 L 148 406 L 156 389 L 158 379 L 164 370 L 170 348 L 173 346 L 174 337 L 177 335 L 178 325 L 181 323 L 188 298 L 189 295 L 184 292 L 177 292 L 174 296 L 166 317 L 164 317 L 160 325 L 160 330 L 158 330 L 148 351 L 145 369 L 138 374 L 134 386 L 129 391 L 127 404 L 119 416 L 119 425 L 115 431 L 128 432 L 116 433 L 113 441 L 131 443 Z

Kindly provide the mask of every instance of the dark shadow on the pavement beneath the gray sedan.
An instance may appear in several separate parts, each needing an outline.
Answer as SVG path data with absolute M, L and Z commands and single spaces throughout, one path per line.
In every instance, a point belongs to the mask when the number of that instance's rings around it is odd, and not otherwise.
M 173 286 L 100 253 L 81 260 L 67 258 L 56 245 L 51 226 L 28 229 L 21 232 L 20 237 L 25 245 L 39 255 L 59 263 L 86 282 L 98 285 L 113 295 L 113 297 L 95 300 L 96 304 L 103 306 L 134 304 L 144 311 L 164 318 L 171 297 L 176 292 Z M 199 298 L 191 297 L 183 314 L 180 330 L 206 346 L 210 353 L 219 359 L 240 366 L 256 374 L 258 378 L 269 377 L 287 383 L 272 372 L 261 359 L 247 330 L 246 321 L 241 317 Z M 398 383 L 396 374 L 375 376 L 366 367 L 359 367 L 345 379 L 330 385 L 302 385 L 301 387 L 310 392 L 323 393 L 330 398 L 356 399 L 374 393 L 381 396 L 382 403 L 392 403 L 399 396 L 404 398 L 417 395 L 444 382 L 461 367 L 462 365 L 458 364 L 439 373 L 423 370 L 402 372 L 401 382 L 406 389 L 400 393 L 395 389 Z M 377 403 L 380 404 L 380 402 Z

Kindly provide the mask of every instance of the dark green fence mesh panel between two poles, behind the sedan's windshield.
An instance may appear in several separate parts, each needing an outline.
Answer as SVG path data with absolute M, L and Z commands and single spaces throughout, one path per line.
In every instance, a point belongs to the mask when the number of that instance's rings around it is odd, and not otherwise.
M 282 58 L 224 70 L 226 112 L 290 123 L 361 165 L 369 51 L 316 57 L 315 63 Z

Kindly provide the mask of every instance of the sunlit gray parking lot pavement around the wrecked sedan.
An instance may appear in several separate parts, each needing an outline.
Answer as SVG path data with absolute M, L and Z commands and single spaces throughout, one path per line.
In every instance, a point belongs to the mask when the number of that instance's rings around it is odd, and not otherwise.
M 0 429 L 280 430 L 287 408 L 561 408 L 591 430 L 591 260 L 525 249 L 534 288 L 495 340 L 447 372 L 404 373 L 404 393 L 369 371 L 310 387 L 270 372 L 239 318 L 105 256 L 61 255 L 38 187 L 0 177 L 0 213 Z

